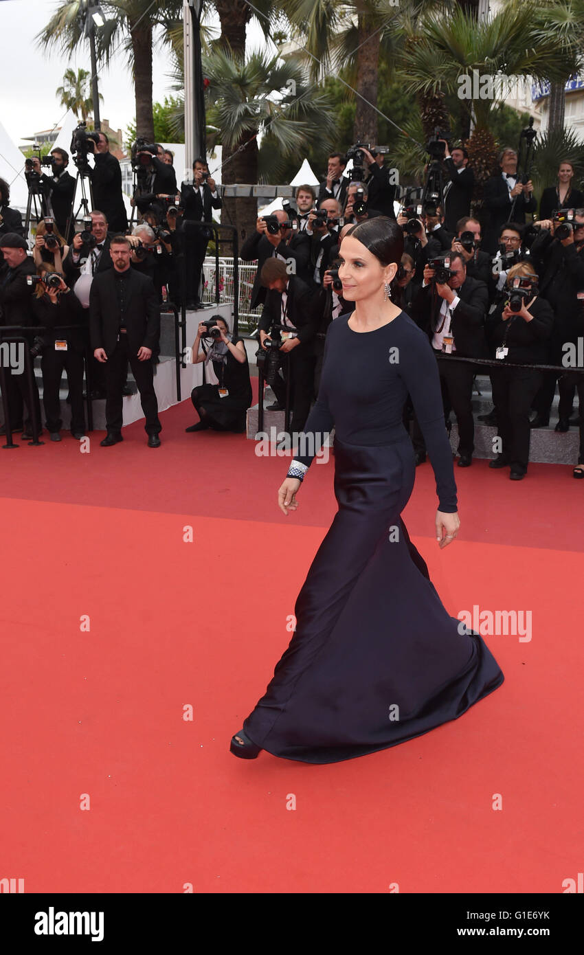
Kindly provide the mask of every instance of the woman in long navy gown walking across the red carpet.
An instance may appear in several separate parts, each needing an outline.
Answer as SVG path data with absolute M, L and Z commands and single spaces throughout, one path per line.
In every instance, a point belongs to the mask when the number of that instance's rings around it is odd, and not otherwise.
M 390 300 L 403 252 L 397 223 L 353 226 L 340 249 L 345 301 L 329 326 L 319 397 L 279 491 L 287 515 L 324 435 L 335 427 L 339 510 L 295 605 L 296 631 L 231 752 L 306 763 L 374 753 L 456 719 L 503 682 L 475 632 L 441 603 L 401 513 L 414 453 L 407 393 L 436 478 L 436 537 L 456 539 L 456 484 L 436 360 L 428 337 Z M 295 442 L 296 446 L 296 442 Z

